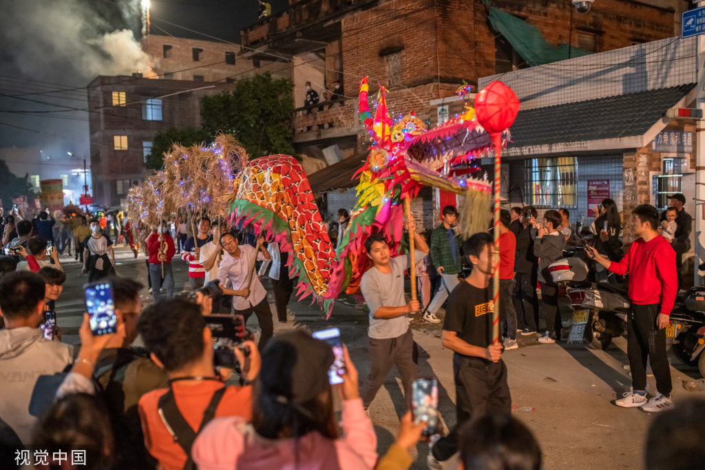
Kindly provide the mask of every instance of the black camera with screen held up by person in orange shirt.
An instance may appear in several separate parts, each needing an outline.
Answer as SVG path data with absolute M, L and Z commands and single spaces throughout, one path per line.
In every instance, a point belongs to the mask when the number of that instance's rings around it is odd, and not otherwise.
M 213 314 L 203 318 L 216 340 L 213 346 L 213 365 L 234 369 L 235 372 L 242 375 L 243 371 L 240 369 L 238 358 L 233 352 L 233 347 L 240 347 L 240 350 L 245 354 L 245 371 L 250 369 L 250 348 L 241 345 L 247 340 L 254 339 L 255 335 L 245 328 L 245 317 L 241 314 Z

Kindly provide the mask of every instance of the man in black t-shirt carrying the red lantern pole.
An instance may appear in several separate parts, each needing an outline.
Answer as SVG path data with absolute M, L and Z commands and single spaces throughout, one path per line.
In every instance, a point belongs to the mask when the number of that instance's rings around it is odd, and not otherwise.
M 453 354 L 455 379 L 455 428 L 446 438 L 432 438 L 428 464 L 441 468 L 440 462 L 458 451 L 458 430 L 470 419 L 486 412 L 510 414 L 512 398 L 507 385 L 507 368 L 501 359 L 502 345 L 492 344 L 492 237 L 476 233 L 462 245 L 472 264 L 465 282 L 448 297 L 443 321 L 443 347 Z

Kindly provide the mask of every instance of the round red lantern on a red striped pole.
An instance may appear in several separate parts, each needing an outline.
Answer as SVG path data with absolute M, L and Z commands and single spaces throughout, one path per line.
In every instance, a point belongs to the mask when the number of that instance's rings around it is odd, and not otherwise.
M 475 116 L 492 137 L 494 147 L 494 313 L 492 315 L 492 343 L 499 342 L 499 194 L 501 181 L 502 132 L 514 123 L 519 113 L 519 99 L 510 87 L 494 81 L 480 90 L 475 98 Z

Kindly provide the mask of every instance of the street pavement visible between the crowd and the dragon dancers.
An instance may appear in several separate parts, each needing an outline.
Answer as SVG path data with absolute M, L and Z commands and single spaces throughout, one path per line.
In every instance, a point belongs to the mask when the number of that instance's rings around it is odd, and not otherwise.
M 134 259 L 124 247 L 116 248 L 116 271 L 120 276 L 140 280 L 147 285 L 144 255 Z M 77 344 L 78 326 L 83 307 L 82 285 L 87 276 L 80 265 L 68 257 L 61 259 L 67 273 L 63 294 L 56 302 L 57 322 L 63 340 Z M 174 261 L 173 272 L 177 290 L 188 286 L 188 267 L 180 259 Z M 269 283 L 264 280 L 265 287 Z M 188 287 L 186 287 L 188 288 Z M 147 287 L 142 291 L 145 304 L 152 303 Z M 164 294 L 162 294 L 164 295 Z M 274 297 L 269 295 L 274 312 Z M 360 371 L 360 382 L 369 373 L 367 356 L 367 314 L 355 307 L 355 300 L 346 297 L 336 302 L 331 318 L 326 321 L 317 305 L 308 302 L 289 304 L 289 321 L 274 321 L 274 334 L 292 328 L 311 331 L 337 326 L 350 356 Z M 563 312 L 568 319 L 568 312 Z M 257 332 L 253 315 L 247 325 Z M 414 338 L 421 352 L 419 374 L 439 379 L 440 410 L 446 428 L 455 424 L 455 388 L 453 385 L 452 352 L 441 346 L 439 325 L 413 321 Z M 520 348 L 503 354 L 508 368 L 513 414 L 534 432 L 544 453 L 544 469 L 639 469 L 643 468 L 642 449 L 652 416 L 639 409 L 616 407 L 611 402 L 630 388 L 626 354 L 627 342 L 618 338 L 606 351 L 595 351 L 587 345 L 540 345 L 534 338 L 520 337 Z M 670 356 L 673 364 L 673 397 L 680 400 L 705 392 L 687 392 L 682 383 L 700 378 L 697 368 L 683 366 Z M 647 390 L 655 394 L 656 385 L 649 377 Z M 378 438 L 380 454 L 393 442 L 400 416 L 404 412 L 401 383 L 396 370 L 387 378 L 370 407 Z M 426 468 L 428 446 L 419 443 L 418 458 L 413 469 Z M 453 468 L 448 465 L 448 468 Z

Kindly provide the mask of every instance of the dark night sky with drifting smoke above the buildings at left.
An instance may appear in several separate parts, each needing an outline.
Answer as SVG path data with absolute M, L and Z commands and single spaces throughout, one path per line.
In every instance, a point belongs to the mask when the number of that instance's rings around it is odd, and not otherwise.
M 288 5 L 270 3 L 273 13 Z M 257 0 L 151 0 L 151 33 L 239 43 L 258 8 Z M 0 0 L 0 11 L 0 147 L 88 156 L 85 86 L 140 70 L 140 0 Z

